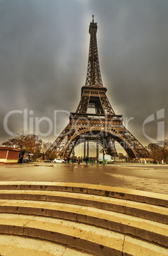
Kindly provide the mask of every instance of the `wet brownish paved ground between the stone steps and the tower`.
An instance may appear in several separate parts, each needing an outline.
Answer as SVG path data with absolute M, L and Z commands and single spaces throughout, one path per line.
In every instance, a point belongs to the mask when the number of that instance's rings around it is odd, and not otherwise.
M 168 194 L 168 165 L 1 164 L 0 181 L 92 183 Z

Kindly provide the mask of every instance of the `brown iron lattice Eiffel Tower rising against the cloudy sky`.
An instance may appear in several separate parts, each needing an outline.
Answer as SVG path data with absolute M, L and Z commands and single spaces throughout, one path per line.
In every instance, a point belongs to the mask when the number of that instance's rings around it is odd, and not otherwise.
M 93 15 L 89 25 L 89 59 L 86 83 L 81 90 L 81 101 L 75 113 L 70 113 L 69 124 L 53 143 L 53 151 L 60 157 L 70 157 L 75 146 L 84 143 L 85 157 L 86 142 L 88 155 L 88 143 L 94 141 L 97 143 L 97 148 L 101 145 L 103 150 L 105 148 L 105 153 L 116 157 L 115 141 L 117 141 L 131 159 L 143 157 L 146 154 L 145 148 L 124 127 L 122 115 L 115 115 L 107 98 L 107 88 L 103 87 L 98 59 L 97 28 Z M 88 112 L 89 110 L 92 110 L 91 113 Z

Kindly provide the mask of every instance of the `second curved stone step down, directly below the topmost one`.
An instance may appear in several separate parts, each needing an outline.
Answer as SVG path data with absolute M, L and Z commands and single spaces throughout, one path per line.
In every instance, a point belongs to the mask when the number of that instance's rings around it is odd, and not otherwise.
M 49 190 L 0 190 L 0 199 L 25 199 L 91 206 L 103 210 L 127 213 L 162 224 L 168 223 L 168 208 L 153 204 L 139 203 L 126 199 L 94 196 L 75 192 Z

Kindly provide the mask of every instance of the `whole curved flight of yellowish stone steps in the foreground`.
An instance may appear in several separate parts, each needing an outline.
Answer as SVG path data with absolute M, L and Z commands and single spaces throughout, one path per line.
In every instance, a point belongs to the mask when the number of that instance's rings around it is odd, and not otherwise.
M 0 182 L 0 255 L 168 255 L 168 195 Z

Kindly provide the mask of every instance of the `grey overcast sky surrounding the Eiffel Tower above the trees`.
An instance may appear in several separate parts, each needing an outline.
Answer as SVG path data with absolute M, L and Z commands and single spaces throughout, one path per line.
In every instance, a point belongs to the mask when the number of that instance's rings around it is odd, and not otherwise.
M 167 13 L 167 0 L 0 0 L 0 143 L 23 129 L 53 142 L 68 124 L 93 14 L 113 110 L 143 145 L 168 138 Z

